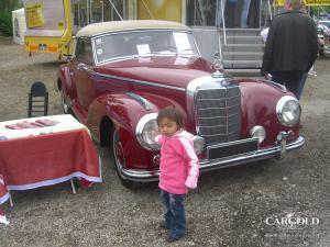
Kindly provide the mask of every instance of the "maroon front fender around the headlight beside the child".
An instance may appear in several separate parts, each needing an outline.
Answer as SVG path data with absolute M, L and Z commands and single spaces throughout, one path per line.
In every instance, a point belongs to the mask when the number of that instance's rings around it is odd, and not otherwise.
M 111 139 L 112 132 L 102 130 L 103 121 L 110 121 L 110 125 L 106 127 L 117 128 L 119 132 L 121 145 L 123 147 L 123 155 L 125 160 L 125 168 L 141 168 L 153 169 L 158 166 L 154 162 L 154 156 L 158 151 L 150 151 L 144 149 L 138 142 L 135 128 L 142 116 L 148 113 L 157 113 L 160 108 L 170 105 L 173 102 L 162 101 L 157 104 L 145 99 L 144 104 L 139 100 L 139 94 L 122 92 L 108 93 L 97 98 L 88 109 L 87 125 L 91 134 L 98 139 Z M 102 136 L 109 135 L 109 136 Z

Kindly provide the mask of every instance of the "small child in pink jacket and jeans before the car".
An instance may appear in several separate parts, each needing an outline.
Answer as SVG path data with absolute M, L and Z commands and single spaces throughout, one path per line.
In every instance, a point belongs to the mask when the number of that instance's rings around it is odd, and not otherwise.
M 193 135 L 183 130 L 183 116 L 173 106 L 164 108 L 157 116 L 161 135 L 161 176 L 158 187 L 166 209 L 162 228 L 169 229 L 167 242 L 182 238 L 186 233 L 184 198 L 188 189 L 197 187 L 198 158 L 194 151 Z

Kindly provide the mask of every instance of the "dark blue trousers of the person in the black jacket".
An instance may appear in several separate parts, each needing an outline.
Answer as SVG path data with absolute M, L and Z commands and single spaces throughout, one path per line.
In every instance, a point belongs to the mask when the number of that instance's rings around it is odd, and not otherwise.
M 298 99 L 300 97 L 300 81 L 302 71 L 273 71 L 271 72 L 273 81 L 284 85 Z

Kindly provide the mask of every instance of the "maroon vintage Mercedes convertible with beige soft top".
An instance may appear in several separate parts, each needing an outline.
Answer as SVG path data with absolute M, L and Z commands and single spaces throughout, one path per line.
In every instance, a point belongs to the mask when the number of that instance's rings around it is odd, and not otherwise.
M 64 111 L 111 146 L 122 183 L 158 178 L 156 116 L 177 108 L 195 135 L 200 171 L 280 157 L 305 143 L 300 105 L 285 87 L 235 80 L 205 60 L 191 31 L 165 21 L 95 23 L 81 29 L 58 71 Z

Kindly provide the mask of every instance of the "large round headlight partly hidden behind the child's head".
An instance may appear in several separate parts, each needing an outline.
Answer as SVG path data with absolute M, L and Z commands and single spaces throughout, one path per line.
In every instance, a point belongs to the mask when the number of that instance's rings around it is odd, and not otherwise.
M 161 146 L 155 137 L 158 133 L 157 113 L 150 113 L 139 121 L 136 125 L 136 137 L 142 147 L 148 150 L 160 150 Z

